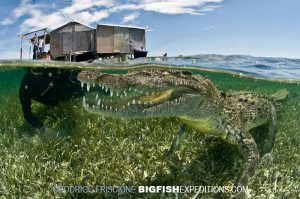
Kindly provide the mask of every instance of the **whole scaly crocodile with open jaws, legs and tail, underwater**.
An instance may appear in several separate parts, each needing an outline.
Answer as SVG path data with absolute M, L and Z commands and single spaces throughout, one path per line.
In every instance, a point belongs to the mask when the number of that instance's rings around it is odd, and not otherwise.
M 82 71 L 78 80 L 89 90 L 95 85 L 102 92 L 84 97 L 83 107 L 91 113 L 125 118 L 177 117 L 183 126 L 169 150 L 176 150 L 186 126 L 215 135 L 236 145 L 245 165 L 236 185 L 246 186 L 254 174 L 259 152 L 251 129 L 267 125 L 266 148 L 270 149 L 276 128 L 273 97 L 253 92 L 220 92 L 206 77 L 189 71 L 152 69 L 127 74 Z M 282 97 L 283 98 L 283 97 Z

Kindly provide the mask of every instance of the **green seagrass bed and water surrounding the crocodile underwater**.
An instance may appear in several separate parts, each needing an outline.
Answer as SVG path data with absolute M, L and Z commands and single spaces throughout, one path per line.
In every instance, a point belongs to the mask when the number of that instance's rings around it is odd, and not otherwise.
M 300 87 L 199 72 L 220 90 L 251 90 L 272 94 L 286 88 L 291 96 L 278 111 L 272 151 L 262 157 L 249 183 L 249 198 L 300 197 Z M 0 195 L 4 198 L 94 198 L 103 193 L 58 193 L 70 185 L 231 186 L 243 159 L 235 146 L 188 129 L 171 159 L 164 158 L 180 127 L 176 118 L 122 119 L 86 113 L 81 99 L 49 109 L 34 103 L 34 112 L 56 129 L 56 138 L 32 129 L 22 114 L 18 84 L 22 72 L 0 73 Z M 12 78 L 13 77 L 13 78 Z M 6 78 L 6 79 L 3 79 Z M 114 195 L 108 195 L 113 197 Z M 185 194 L 122 195 L 125 198 L 187 198 Z M 198 197 L 212 198 L 211 193 Z M 228 198 L 222 193 L 218 198 Z

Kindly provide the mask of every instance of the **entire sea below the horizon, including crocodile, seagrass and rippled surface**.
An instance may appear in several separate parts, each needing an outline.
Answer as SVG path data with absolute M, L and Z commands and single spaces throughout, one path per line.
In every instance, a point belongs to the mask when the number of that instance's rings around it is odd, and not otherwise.
M 300 197 L 300 60 L 2 60 L 0 82 L 1 198 Z

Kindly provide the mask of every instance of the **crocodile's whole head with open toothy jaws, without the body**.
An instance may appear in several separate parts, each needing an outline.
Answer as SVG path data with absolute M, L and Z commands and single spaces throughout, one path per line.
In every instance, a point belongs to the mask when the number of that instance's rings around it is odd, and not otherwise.
M 193 112 L 210 98 L 212 84 L 189 71 L 140 70 L 127 74 L 82 71 L 89 92 L 83 107 L 91 113 L 118 117 L 176 117 Z

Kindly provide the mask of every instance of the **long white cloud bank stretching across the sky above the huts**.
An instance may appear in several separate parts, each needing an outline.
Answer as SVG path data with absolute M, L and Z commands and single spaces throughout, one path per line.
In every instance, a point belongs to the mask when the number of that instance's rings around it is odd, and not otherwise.
M 114 13 L 122 11 L 132 12 L 123 16 L 123 23 L 133 22 L 140 16 L 141 11 L 161 14 L 190 14 L 201 15 L 212 11 L 216 4 L 224 0 L 72 0 L 65 7 L 46 5 L 42 1 L 32 3 L 31 0 L 21 0 L 7 18 L 0 21 L 0 25 L 11 25 L 21 17 L 22 32 L 32 31 L 44 27 L 54 29 L 64 23 L 77 20 L 86 24 L 99 22 Z

